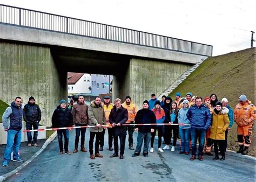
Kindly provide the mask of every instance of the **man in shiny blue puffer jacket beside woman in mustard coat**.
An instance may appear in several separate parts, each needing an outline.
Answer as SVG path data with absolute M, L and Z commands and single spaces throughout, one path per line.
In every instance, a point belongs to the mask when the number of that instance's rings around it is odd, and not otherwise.
M 191 124 L 191 138 L 192 138 L 192 156 L 190 160 L 196 159 L 197 139 L 198 139 L 198 159 L 204 160 L 203 149 L 205 142 L 206 130 L 210 127 L 212 115 L 208 107 L 203 104 L 201 97 L 196 98 L 196 104 L 190 107 L 187 111 L 187 118 Z

